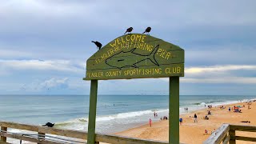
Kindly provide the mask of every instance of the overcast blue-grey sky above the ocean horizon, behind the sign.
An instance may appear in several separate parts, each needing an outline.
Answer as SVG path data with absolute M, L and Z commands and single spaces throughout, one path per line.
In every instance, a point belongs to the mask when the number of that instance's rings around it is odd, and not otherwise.
M 256 1 L 0 0 L 0 94 L 90 94 L 86 60 L 128 27 L 185 50 L 180 94 L 256 95 Z M 168 78 L 98 94 L 168 94 Z

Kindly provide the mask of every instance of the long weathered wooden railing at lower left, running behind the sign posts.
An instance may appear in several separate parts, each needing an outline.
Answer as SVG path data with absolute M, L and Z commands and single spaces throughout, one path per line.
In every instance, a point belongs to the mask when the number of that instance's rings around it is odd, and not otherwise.
M 62 130 L 52 127 L 45 126 L 33 126 L 14 122 L 0 122 L 1 131 L 0 143 L 7 143 L 6 138 L 14 138 L 27 142 L 35 142 L 42 144 L 60 144 L 60 143 L 86 143 L 87 133 L 79 130 Z M 27 132 L 24 134 L 11 133 L 8 129 L 18 129 L 18 130 L 29 130 L 31 133 Z M 36 132 L 37 134 L 35 134 Z M 64 136 L 64 137 L 56 137 Z M 71 140 L 73 138 L 73 140 Z M 139 139 L 139 138 L 128 138 L 114 134 L 96 134 L 95 143 L 106 142 L 106 143 L 149 143 L 149 144 L 166 144 L 168 142 Z

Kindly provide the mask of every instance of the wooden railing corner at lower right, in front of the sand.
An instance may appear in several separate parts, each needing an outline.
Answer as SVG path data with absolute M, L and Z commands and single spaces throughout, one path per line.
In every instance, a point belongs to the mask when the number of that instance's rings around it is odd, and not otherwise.
M 235 144 L 236 140 L 256 142 L 256 138 L 236 136 L 236 131 L 248 131 L 256 132 L 256 126 L 240 126 L 223 124 L 218 128 L 210 137 L 204 142 L 204 144 L 219 144 L 219 143 L 230 143 Z

